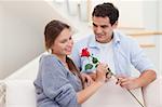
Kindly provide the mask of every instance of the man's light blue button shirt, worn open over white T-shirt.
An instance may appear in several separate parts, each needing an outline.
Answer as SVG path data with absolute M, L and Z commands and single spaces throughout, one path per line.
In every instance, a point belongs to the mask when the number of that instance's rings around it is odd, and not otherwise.
M 85 48 L 87 48 L 89 52 L 93 56 L 98 57 L 99 61 L 100 49 L 98 43 L 95 41 L 94 35 L 89 36 L 75 44 L 71 58 L 81 71 L 91 72 L 95 70 L 95 67 L 85 70 L 84 67 L 87 63 L 90 63 L 90 59 L 87 57 L 81 57 L 82 49 Z M 138 42 L 119 31 L 113 31 L 112 53 L 112 62 L 114 64 L 114 72 L 117 75 L 131 76 L 132 66 L 134 66 L 134 68 L 136 68 L 139 72 L 147 69 L 154 69 L 151 62 L 146 57 L 143 49 L 138 45 Z M 108 57 L 108 52 L 105 53 L 105 56 L 103 57 Z

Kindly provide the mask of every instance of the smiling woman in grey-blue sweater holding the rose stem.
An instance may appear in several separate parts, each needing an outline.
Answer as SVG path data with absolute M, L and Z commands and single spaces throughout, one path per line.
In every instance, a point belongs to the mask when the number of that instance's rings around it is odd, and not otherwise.
M 51 54 L 40 59 L 35 80 L 38 107 L 80 107 L 106 80 L 107 65 L 96 68 L 96 81 L 84 88 L 84 81 L 71 54 L 71 29 L 59 21 L 50 22 L 44 30 L 45 48 Z

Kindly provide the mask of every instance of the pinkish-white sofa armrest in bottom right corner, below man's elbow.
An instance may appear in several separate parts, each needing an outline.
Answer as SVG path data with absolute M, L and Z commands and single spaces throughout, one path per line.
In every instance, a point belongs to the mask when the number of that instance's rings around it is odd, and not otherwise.
M 157 78 L 152 83 L 143 88 L 146 107 L 162 107 L 162 77 Z

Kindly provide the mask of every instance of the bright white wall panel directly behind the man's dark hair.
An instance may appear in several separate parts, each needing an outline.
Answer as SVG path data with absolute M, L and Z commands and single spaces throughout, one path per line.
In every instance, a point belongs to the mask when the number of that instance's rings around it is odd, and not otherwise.
M 96 4 L 112 2 L 119 9 L 119 26 L 144 28 L 143 1 L 141 0 L 94 0 L 91 13 Z M 134 14 L 135 13 L 135 14 Z M 90 15 L 91 16 L 91 15 Z

